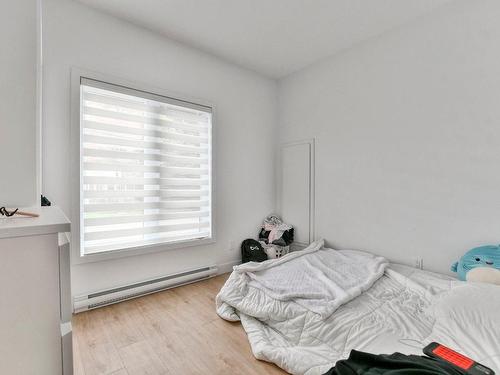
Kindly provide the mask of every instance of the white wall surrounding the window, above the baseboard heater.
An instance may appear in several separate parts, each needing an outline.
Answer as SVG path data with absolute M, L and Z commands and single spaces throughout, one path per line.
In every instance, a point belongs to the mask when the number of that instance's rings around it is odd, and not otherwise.
M 217 243 L 72 267 L 73 294 L 240 258 L 274 209 L 276 83 L 101 14 L 45 0 L 43 187 L 70 213 L 70 68 L 197 97 L 216 107 Z M 230 243 L 232 243 L 231 251 Z

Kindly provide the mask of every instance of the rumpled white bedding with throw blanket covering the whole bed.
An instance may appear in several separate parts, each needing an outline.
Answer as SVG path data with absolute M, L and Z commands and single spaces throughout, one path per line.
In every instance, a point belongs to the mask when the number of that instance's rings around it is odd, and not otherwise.
M 256 358 L 315 375 L 351 349 L 421 354 L 438 341 L 498 373 L 499 286 L 321 245 L 235 267 L 221 289 L 217 313 L 241 320 Z

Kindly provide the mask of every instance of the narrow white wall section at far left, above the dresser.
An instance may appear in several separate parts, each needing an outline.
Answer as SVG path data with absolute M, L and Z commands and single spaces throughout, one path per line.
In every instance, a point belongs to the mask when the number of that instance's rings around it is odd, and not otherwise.
M 37 1 L 0 7 L 0 206 L 35 204 Z

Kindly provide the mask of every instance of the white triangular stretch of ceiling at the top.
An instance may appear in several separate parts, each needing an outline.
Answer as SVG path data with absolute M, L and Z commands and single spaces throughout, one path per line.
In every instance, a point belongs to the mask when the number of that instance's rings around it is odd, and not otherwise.
M 450 0 L 79 0 L 279 78 Z

